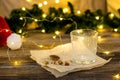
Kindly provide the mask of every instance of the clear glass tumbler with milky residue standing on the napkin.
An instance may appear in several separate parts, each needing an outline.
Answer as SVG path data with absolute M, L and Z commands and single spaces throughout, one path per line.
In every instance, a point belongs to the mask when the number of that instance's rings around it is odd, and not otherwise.
M 90 64 L 96 60 L 98 32 L 92 29 L 77 29 L 70 33 L 75 62 Z

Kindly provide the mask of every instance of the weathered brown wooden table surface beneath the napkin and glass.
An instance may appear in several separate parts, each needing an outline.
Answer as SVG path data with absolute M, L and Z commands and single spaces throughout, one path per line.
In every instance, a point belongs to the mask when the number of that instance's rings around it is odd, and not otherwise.
M 6 46 L 0 47 L 0 80 L 120 80 L 115 78 L 115 75 L 120 74 L 119 34 L 106 33 L 99 39 L 97 55 L 105 59 L 112 58 L 108 64 L 60 78 L 55 78 L 30 58 L 30 50 L 47 49 L 53 44 L 61 44 L 58 36 L 56 39 L 52 36 L 53 34 L 29 33 L 29 37 L 23 40 L 23 46 L 19 50 L 12 51 Z M 61 37 L 63 44 L 70 42 L 69 35 Z M 40 44 L 44 47 L 38 47 Z

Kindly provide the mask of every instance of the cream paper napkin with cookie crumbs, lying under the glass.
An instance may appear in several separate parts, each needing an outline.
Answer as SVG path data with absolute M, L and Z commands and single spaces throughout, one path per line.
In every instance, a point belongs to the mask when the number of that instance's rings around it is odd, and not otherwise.
M 95 67 L 100 67 L 110 61 L 110 59 L 105 60 L 95 55 L 96 61 L 94 63 L 77 63 L 74 60 L 75 54 L 72 53 L 71 43 L 59 45 L 50 50 L 31 50 L 30 53 L 33 60 L 40 64 L 44 69 L 50 71 L 55 77 L 61 77 L 70 72 L 89 70 Z M 58 59 L 53 60 L 50 56 Z

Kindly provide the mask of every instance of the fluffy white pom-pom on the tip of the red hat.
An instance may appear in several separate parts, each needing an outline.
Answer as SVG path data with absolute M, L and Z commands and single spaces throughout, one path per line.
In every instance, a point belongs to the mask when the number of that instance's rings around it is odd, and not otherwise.
M 18 34 L 12 33 L 7 38 L 7 46 L 12 49 L 16 50 L 22 46 L 22 39 Z

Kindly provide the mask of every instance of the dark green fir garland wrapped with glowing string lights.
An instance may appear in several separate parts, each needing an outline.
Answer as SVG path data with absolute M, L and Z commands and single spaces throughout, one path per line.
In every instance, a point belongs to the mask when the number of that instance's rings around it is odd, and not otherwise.
M 59 0 L 55 1 L 56 4 L 59 2 Z M 40 30 L 44 33 L 55 33 L 55 31 L 70 33 L 76 28 L 96 29 L 102 32 L 107 29 L 120 32 L 120 18 L 113 13 L 103 13 L 101 10 L 95 12 L 78 10 L 75 12 L 74 6 L 70 2 L 68 2 L 68 8 L 50 7 L 48 13 L 45 13 L 42 6 L 47 6 L 47 4 L 48 2 L 44 1 L 34 4 L 31 9 L 25 7 L 14 9 L 11 11 L 10 17 L 5 19 L 13 32 L 22 35 L 29 29 Z M 118 10 L 118 13 L 120 13 L 120 10 Z M 32 28 L 29 28 L 30 26 Z

